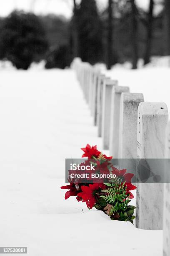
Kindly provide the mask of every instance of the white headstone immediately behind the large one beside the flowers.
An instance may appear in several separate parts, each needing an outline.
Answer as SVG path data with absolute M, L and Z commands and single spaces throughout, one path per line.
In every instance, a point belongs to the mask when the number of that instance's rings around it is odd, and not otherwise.
M 120 99 L 119 159 L 136 159 L 138 105 L 142 93 L 122 92 Z

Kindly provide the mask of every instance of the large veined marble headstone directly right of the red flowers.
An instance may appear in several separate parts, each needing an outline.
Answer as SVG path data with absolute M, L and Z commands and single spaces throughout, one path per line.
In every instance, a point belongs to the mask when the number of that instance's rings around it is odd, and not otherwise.
M 165 103 L 142 102 L 138 108 L 137 158 L 163 159 L 166 154 L 168 110 Z M 148 160 L 147 160 L 148 159 Z M 139 170 L 137 171 L 138 175 Z M 148 180 L 150 181 L 150 179 Z M 148 230 L 163 229 L 163 183 L 137 183 L 136 227 Z

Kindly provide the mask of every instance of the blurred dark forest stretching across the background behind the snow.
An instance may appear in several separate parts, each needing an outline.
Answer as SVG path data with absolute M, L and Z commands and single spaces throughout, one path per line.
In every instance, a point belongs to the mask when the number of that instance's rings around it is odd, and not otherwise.
M 42 59 L 47 69 L 64 69 L 74 57 L 107 69 L 129 61 L 136 69 L 139 59 L 145 65 L 151 56 L 170 55 L 170 0 L 148 0 L 146 9 L 135 0 L 99 6 L 95 0 L 72 0 L 71 18 L 14 10 L 0 18 L 0 59 L 17 69 Z

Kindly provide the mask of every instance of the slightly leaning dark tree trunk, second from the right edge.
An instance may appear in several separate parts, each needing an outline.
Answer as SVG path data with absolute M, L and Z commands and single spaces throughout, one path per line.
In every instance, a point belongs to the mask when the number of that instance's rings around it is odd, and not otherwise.
M 148 64 L 150 61 L 150 51 L 151 51 L 152 34 L 153 34 L 153 7 L 154 7 L 154 1 L 150 0 L 149 12 L 147 15 L 147 22 L 146 22 L 147 38 L 146 38 L 144 64 Z

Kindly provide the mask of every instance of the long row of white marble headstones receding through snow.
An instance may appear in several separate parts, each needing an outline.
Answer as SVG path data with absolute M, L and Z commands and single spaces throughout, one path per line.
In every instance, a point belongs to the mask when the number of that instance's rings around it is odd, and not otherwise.
M 73 61 L 72 68 L 97 125 L 98 136 L 102 137 L 103 148 L 109 149 L 113 158 L 169 158 L 165 103 L 144 102 L 142 93 L 130 93 L 129 87 L 119 86 L 116 80 L 105 77 L 79 58 Z M 170 256 L 170 184 L 136 185 L 136 227 L 162 230 L 164 223 L 164 255 Z

